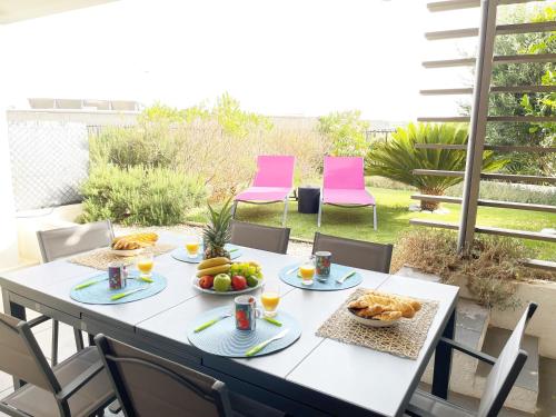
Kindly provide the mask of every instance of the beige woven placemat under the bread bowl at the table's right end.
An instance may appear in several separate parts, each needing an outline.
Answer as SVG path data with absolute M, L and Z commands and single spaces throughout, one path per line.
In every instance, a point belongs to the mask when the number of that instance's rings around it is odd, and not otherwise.
M 401 318 L 390 327 L 366 327 L 355 321 L 347 309 L 349 301 L 355 300 L 366 291 L 365 288 L 355 290 L 319 327 L 317 336 L 417 359 L 438 309 L 438 301 L 419 299 L 421 309 L 414 318 Z

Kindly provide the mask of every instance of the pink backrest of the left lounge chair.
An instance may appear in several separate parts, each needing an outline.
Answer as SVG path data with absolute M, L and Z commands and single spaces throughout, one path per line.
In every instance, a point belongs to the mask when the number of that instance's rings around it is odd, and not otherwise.
M 257 158 L 257 173 L 252 185 L 255 187 L 294 186 L 295 157 L 261 155 Z

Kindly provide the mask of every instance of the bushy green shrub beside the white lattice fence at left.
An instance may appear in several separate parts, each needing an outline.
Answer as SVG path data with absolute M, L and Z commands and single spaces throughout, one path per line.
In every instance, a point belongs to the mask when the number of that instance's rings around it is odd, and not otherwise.
M 122 225 L 179 225 L 206 199 L 198 178 L 170 168 L 97 165 L 83 183 L 82 221 L 111 219 Z

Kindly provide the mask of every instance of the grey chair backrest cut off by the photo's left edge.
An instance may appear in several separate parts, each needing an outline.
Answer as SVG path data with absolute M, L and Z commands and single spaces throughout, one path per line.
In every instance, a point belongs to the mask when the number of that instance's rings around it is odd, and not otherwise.
M 0 312 L 0 370 L 52 394 L 60 385 L 26 321 Z

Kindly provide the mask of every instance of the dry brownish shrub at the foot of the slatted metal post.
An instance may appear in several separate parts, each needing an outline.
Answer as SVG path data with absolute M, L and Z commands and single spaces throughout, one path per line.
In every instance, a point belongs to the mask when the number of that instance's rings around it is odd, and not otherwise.
M 439 230 L 413 230 L 403 235 L 396 246 L 393 270 L 404 265 L 439 276 L 451 284 L 467 278 L 467 286 L 478 302 L 498 309 L 515 308 L 515 280 L 556 280 L 556 274 L 527 268 L 520 264 L 535 258 L 534 249 L 517 239 L 478 236 L 464 257 L 457 252 L 457 234 Z

